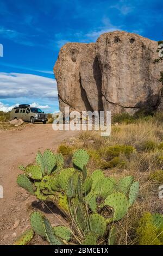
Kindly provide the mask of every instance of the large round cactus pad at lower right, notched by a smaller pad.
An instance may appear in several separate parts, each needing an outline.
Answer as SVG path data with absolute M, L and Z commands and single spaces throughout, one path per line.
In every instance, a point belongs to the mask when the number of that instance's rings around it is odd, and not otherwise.
M 105 205 L 108 205 L 114 209 L 114 216 L 107 220 L 107 223 L 118 221 L 123 218 L 128 211 L 127 197 L 120 192 L 112 193 L 105 199 Z

